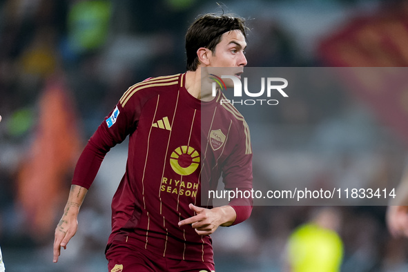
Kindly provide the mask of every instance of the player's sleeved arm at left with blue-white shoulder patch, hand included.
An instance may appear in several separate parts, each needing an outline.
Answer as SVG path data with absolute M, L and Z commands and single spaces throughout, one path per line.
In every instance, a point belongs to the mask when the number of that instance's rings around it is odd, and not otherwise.
M 58 261 L 61 247 L 66 249 L 69 240 L 77 232 L 79 207 L 84 202 L 86 192 L 93 184 L 106 153 L 135 131 L 140 112 L 138 98 L 137 95 L 131 97 L 126 107 L 119 102 L 90 137 L 82 151 L 75 166 L 64 214 L 55 229 L 53 262 Z

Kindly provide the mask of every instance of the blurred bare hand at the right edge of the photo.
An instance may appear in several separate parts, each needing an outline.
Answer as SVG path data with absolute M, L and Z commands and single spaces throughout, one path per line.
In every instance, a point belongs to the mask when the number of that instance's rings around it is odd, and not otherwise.
M 408 206 L 389 206 L 386 220 L 391 235 L 408 237 Z

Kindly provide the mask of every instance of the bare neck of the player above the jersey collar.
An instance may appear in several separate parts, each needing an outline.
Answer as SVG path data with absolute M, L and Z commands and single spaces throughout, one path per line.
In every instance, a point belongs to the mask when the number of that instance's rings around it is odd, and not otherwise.
M 206 80 L 207 77 L 202 75 L 201 67 L 195 71 L 186 72 L 186 90 L 193 97 L 202 101 L 211 101 L 214 97 L 211 95 L 211 84 Z M 202 86 L 205 85 L 205 86 Z M 207 86 L 208 85 L 208 86 Z M 204 92 L 204 90 L 208 90 Z

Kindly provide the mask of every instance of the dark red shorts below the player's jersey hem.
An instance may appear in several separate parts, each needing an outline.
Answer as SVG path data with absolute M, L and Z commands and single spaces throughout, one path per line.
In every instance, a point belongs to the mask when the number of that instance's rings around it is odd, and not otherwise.
M 106 251 L 109 272 L 215 272 L 211 262 L 165 258 L 126 241 L 114 241 Z

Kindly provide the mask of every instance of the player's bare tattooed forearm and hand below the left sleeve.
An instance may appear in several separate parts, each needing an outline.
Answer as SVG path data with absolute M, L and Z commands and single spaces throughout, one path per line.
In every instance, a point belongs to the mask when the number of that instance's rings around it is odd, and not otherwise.
M 86 192 L 88 192 L 88 189 L 84 187 L 78 185 L 71 186 L 68 202 L 64 208 L 64 214 L 55 229 L 53 262 L 58 262 L 61 247 L 66 249 L 66 245 L 70 239 L 77 233 L 79 208 L 82 202 L 84 202 Z

